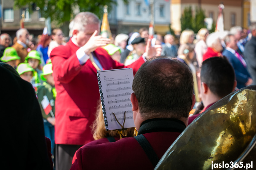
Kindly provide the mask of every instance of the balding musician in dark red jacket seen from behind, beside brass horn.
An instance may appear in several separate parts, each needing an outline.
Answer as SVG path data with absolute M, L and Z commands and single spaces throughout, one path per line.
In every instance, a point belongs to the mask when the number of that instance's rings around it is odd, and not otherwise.
M 71 170 L 154 169 L 186 128 L 195 95 L 193 76 L 185 64 L 166 56 L 147 61 L 134 76 L 132 89 L 138 136 L 80 148 Z

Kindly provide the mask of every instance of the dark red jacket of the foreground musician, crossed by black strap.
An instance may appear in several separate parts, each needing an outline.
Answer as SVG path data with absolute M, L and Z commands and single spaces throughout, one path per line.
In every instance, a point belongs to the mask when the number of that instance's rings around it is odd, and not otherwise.
M 151 132 L 144 136 L 160 159 L 180 135 L 178 132 Z M 154 169 L 144 150 L 133 137 L 116 142 L 85 146 L 77 150 L 70 170 L 82 169 Z

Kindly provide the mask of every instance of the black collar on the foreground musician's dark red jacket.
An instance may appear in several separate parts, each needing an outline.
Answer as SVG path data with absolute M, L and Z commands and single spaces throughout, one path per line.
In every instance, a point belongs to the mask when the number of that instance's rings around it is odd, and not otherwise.
M 141 123 L 138 135 L 150 132 L 182 132 L 186 128 L 184 122 L 171 118 L 148 119 Z

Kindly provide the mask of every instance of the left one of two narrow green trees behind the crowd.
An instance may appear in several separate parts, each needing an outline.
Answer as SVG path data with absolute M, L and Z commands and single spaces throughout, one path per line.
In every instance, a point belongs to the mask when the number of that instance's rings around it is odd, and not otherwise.
M 193 16 L 192 16 L 191 6 L 184 9 L 184 12 L 180 18 L 180 22 L 181 22 L 181 31 L 184 31 L 186 29 L 193 30 Z

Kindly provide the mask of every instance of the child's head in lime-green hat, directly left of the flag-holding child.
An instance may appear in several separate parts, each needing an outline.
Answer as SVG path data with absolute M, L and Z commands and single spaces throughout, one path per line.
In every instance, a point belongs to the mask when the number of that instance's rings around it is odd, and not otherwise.
M 28 63 L 20 63 L 16 70 L 20 77 L 28 82 L 31 81 L 35 71 Z

